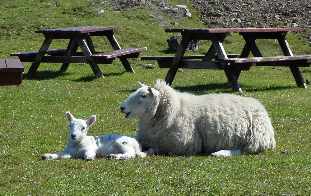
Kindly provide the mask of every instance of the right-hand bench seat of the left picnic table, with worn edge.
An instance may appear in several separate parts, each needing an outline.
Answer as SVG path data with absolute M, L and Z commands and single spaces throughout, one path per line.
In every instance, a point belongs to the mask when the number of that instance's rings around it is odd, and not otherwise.
M 147 50 L 146 47 L 144 48 L 124 48 L 120 50 L 113 50 L 113 51 L 108 51 L 108 52 L 101 52 L 97 54 L 92 54 L 92 58 L 103 58 L 103 59 L 109 59 L 109 58 L 137 58 L 139 57 L 139 54 Z

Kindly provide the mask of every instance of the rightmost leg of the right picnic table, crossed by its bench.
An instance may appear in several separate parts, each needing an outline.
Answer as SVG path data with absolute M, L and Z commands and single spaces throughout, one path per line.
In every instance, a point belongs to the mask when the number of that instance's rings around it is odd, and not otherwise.
M 290 46 L 285 39 L 285 35 L 280 36 L 280 38 L 277 39 L 280 47 L 284 53 L 285 56 L 293 56 L 293 53 L 290 50 Z M 298 68 L 298 66 L 290 66 L 290 71 L 292 72 L 294 79 L 296 81 L 296 84 L 298 87 L 307 89 L 307 84 L 304 82 L 304 78 L 301 75 L 301 72 Z

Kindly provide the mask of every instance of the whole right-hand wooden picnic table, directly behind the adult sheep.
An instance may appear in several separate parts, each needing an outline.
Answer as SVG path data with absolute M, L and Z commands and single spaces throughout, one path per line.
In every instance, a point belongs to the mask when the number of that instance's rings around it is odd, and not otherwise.
M 179 68 L 218 69 L 225 71 L 233 91 L 242 91 L 238 82 L 242 70 L 249 70 L 251 66 L 288 66 L 297 85 L 307 89 L 298 67 L 310 66 L 311 55 L 294 56 L 285 38 L 287 32 L 300 30 L 301 28 L 165 29 L 165 32 L 182 35 L 175 56 L 142 57 L 142 60 L 157 60 L 160 67 L 169 68 L 165 78 L 169 85 Z M 231 33 L 239 33 L 245 40 L 240 54 L 227 54 L 222 45 Z M 263 57 L 255 43 L 256 39 L 277 39 L 285 56 Z M 212 44 L 205 55 L 186 56 L 184 53 L 190 40 L 210 40 Z M 254 57 L 248 57 L 250 52 Z

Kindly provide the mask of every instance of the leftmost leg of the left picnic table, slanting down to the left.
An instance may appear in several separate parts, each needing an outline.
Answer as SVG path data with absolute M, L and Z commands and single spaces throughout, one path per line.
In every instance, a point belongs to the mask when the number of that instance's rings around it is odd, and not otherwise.
M 33 78 L 35 76 L 35 73 L 36 73 L 36 71 L 37 71 L 37 69 L 38 69 L 38 67 L 42 61 L 42 58 L 44 57 L 46 51 L 48 50 L 52 40 L 53 40 L 53 36 L 46 36 L 45 37 L 43 44 L 42 44 L 41 48 L 39 49 L 37 56 L 34 59 L 34 62 L 31 64 L 31 66 L 27 72 L 26 77 Z

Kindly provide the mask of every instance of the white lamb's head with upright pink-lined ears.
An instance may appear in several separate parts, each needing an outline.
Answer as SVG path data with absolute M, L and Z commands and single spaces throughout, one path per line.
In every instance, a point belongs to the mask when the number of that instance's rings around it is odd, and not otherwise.
M 69 140 L 79 142 L 86 136 L 87 130 L 96 121 L 96 115 L 91 116 L 89 119 L 82 120 L 72 116 L 68 111 L 66 112 L 67 120 L 70 123 Z

